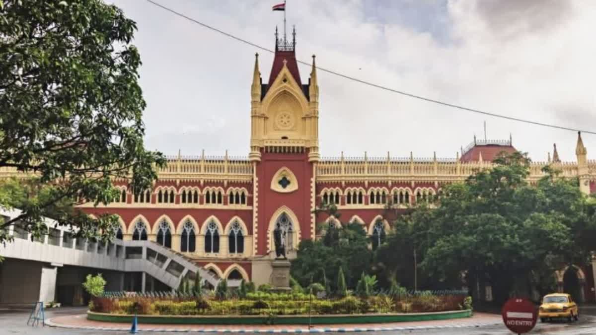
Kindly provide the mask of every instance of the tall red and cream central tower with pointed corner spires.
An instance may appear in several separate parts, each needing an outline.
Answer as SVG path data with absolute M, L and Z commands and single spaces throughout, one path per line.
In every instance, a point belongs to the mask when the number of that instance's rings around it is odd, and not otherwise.
M 319 161 L 319 88 L 315 57 L 302 83 L 293 41 L 275 35 L 275 57 L 267 83 L 254 60 L 249 159 L 254 165 L 253 255 L 275 257 L 274 235 L 288 258 L 300 241 L 314 238 L 315 166 Z

